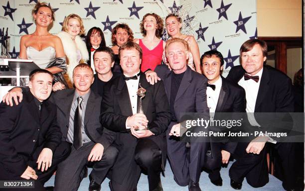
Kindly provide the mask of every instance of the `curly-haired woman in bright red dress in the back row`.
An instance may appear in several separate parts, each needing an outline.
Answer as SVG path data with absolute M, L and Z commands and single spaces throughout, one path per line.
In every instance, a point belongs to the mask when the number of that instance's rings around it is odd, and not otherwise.
M 143 51 L 141 71 L 154 71 L 161 64 L 165 42 L 160 39 L 163 34 L 163 19 L 155 13 L 147 13 L 140 23 L 144 38 L 136 39 Z

